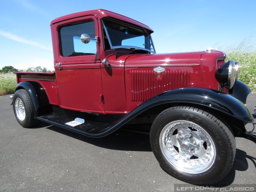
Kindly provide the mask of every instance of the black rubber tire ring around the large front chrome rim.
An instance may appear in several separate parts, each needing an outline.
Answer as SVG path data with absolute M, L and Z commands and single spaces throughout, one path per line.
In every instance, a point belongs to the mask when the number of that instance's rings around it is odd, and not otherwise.
M 188 174 L 182 172 L 172 166 L 162 154 L 160 147 L 160 133 L 168 123 L 176 120 L 186 120 L 198 124 L 198 126 L 201 126 L 211 136 L 216 148 L 216 157 L 214 164 L 206 172 L 201 174 Z M 214 180 L 217 180 L 218 177 L 224 174 L 228 167 L 228 162 L 230 161 L 228 143 L 226 142 L 222 131 L 219 128 L 216 128 L 216 126 L 218 127 L 218 125 L 215 125 L 208 118 L 194 111 L 164 111 L 162 115 L 160 114 L 156 118 L 150 132 L 150 144 L 156 159 L 166 172 L 180 180 L 193 184 L 208 184 L 214 182 Z

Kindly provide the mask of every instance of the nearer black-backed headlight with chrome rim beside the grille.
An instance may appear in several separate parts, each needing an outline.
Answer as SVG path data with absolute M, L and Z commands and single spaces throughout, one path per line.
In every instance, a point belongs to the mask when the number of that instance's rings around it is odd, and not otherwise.
M 240 73 L 239 63 L 236 65 L 233 60 L 229 60 L 216 70 L 215 78 L 220 84 L 231 89 L 239 77 L 237 72 Z

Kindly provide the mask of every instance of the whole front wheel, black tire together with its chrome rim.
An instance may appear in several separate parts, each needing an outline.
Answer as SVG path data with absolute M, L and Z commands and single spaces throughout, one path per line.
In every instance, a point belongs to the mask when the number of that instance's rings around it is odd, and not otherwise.
M 178 106 L 164 110 L 154 120 L 151 148 L 168 174 L 191 184 L 208 185 L 231 170 L 236 155 L 234 134 L 225 120 L 211 113 Z

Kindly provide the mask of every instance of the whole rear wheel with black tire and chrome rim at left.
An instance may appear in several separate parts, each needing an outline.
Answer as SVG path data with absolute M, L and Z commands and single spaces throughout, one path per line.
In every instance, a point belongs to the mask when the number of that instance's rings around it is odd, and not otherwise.
M 18 123 L 24 128 L 38 124 L 34 118 L 33 105 L 28 92 L 24 89 L 17 90 L 13 96 L 13 111 Z

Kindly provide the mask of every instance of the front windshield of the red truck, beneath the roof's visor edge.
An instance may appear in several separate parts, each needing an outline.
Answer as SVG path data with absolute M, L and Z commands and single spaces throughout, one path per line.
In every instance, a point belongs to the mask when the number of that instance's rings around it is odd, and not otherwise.
M 156 53 L 152 31 L 113 18 L 103 18 L 105 49 L 135 48 Z

